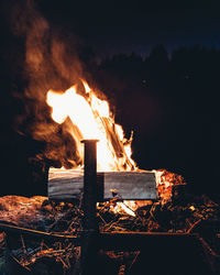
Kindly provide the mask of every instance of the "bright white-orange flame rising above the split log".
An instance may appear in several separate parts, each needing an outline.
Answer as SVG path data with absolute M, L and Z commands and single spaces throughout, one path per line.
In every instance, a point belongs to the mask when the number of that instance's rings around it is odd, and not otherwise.
M 121 125 L 116 124 L 110 113 L 109 103 L 99 99 L 85 80 L 85 96 L 77 94 L 77 86 L 64 92 L 48 90 L 46 102 L 52 107 L 52 118 L 63 123 L 67 118 L 73 122 L 69 132 L 76 141 L 82 160 L 85 139 L 99 140 L 97 144 L 97 166 L 99 170 L 136 169 L 131 158 L 131 142 L 124 138 Z

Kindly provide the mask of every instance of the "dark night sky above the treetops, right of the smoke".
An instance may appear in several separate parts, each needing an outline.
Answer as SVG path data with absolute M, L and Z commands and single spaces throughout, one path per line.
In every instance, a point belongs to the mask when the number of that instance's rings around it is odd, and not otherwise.
M 100 54 L 136 52 L 147 55 L 164 44 L 220 47 L 219 1 L 42 1 L 54 24 L 74 30 Z

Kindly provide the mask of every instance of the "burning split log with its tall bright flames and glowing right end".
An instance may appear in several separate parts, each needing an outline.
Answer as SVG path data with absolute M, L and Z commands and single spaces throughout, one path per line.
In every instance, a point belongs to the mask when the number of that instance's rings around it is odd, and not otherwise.
M 98 98 L 88 84 L 81 80 L 85 91 L 78 92 L 74 86 L 65 92 L 47 92 L 47 103 L 52 107 L 52 118 L 57 123 L 70 119 L 69 133 L 76 141 L 82 163 L 82 139 L 98 139 L 97 183 L 101 187 L 103 177 L 103 199 L 111 199 L 116 189 L 118 196 L 127 200 L 160 199 L 170 200 L 173 186 L 184 185 L 180 176 L 170 178 L 165 170 L 140 170 L 131 158 L 131 142 L 123 134 L 122 127 L 114 123 L 106 100 Z M 173 176 L 174 177 L 174 176 Z M 156 180 L 155 180 L 156 178 Z M 155 188 L 157 186 L 157 188 Z M 119 190 L 118 190 L 119 189 Z M 82 190 L 82 173 L 76 169 L 51 169 L 48 197 L 52 199 L 79 198 Z M 122 205 L 123 206 L 123 205 Z

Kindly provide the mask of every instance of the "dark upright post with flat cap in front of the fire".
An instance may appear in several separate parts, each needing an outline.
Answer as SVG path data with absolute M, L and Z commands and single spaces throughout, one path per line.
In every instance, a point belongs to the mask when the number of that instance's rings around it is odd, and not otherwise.
M 84 197 L 82 197 L 82 243 L 81 243 L 81 274 L 96 274 L 97 258 L 97 142 L 84 140 Z

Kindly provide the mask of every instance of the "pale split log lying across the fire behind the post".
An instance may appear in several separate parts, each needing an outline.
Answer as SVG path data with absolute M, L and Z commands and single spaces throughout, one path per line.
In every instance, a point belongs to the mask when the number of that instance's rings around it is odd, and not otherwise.
M 122 199 L 146 200 L 157 198 L 155 174 L 152 172 L 105 172 L 105 200 L 116 193 Z M 100 175 L 98 173 L 98 175 Z M 74 199 L 81 196 L 84 188 L 82 170 L 50 169 L 48 197 L 51 199 Z M 112 194 L 111 190 L 116 190 Z

